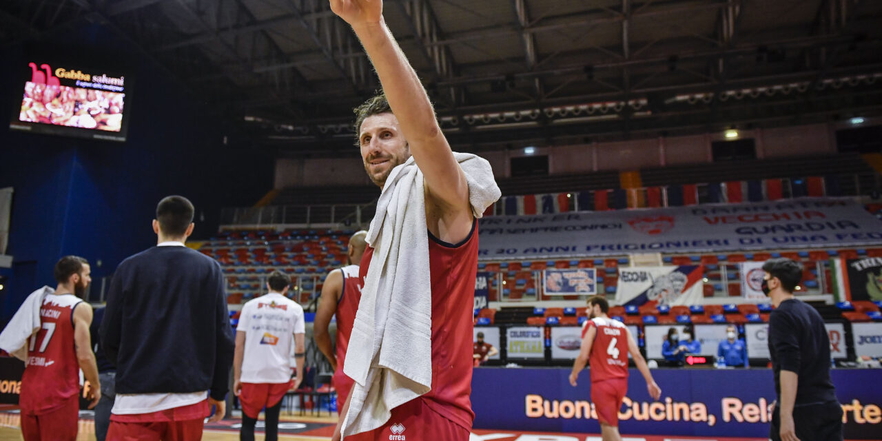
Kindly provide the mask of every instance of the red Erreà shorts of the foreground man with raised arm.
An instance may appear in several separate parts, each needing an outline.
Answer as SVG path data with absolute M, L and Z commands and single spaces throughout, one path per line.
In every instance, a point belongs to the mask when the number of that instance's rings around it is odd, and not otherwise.
M 382 427 L 346 437 L 345 441 L 468 441 L 468 436 L 469 430 L 430 409 L 424 399 L 415 398 L 393 408 L 392 416 Z

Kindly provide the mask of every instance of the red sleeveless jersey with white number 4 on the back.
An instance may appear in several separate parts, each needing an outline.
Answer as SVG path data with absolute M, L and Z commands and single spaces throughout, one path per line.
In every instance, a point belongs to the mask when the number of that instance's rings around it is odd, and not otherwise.
M 595 317 L 585 322 L 582 338 L 588 328 L 597 328 L 591 347 L 591 382 L 628 377 L 628 328 L 612 318 Z

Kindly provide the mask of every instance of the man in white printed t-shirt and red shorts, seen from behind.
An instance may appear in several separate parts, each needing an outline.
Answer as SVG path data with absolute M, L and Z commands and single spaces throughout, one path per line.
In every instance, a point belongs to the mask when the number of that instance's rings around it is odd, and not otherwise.
M 281 399 L 303 382 L 303 308 L 288 299 L 288 276 L 280 271 L 266 282 L 269 293 L 242 307 L 235 332 L 233 392 L 242 404 L 243 441 L 254 440 L 254 426 L 266 408 L 266 441 L 279 438 Z M 291 383 L 291 346 L 295 347 L 297 377 Z

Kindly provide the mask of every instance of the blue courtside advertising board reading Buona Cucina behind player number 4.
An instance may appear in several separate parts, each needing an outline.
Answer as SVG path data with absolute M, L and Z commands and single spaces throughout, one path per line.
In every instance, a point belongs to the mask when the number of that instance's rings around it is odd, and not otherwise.
M 475 370 L 475 428 L 599 433 L 588 370 L 579 375 L 577 387 L 567 381 L 569 374 L 567 368 Z M 846 439 L 878 439 L 882 433 L 878 375 L 878 370 L 831 371 Z M 662 387 L 659 401 L 649 397 L 639 371 L 631 370 L 619 413 L 622 433 L 768 437 L 775 400 L 772 370 L 665 369 L 653 376 Z

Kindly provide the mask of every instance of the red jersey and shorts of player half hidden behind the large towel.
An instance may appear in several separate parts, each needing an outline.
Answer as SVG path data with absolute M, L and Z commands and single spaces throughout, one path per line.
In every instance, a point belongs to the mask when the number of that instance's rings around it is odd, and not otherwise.
M 340 407 L 346 402 L 349 390 L 355 383 L 343 373 L 343 362 L 346 360 L 346 348 L 349 346 L 349 336 L 352 335 L 352 325 L 355 323 L 355 312 L 358 311 L 358 303 L 362 300 L 362 287 L 364 279 L 359 276 L 358 265 L 348 265 L 340 268 L 343 273 L 343 293 L 337 301 L 337 370 L 334 371 L 334 388 L 340 397 Z

